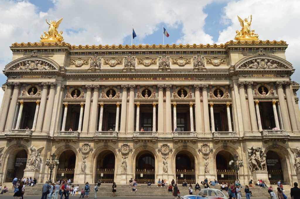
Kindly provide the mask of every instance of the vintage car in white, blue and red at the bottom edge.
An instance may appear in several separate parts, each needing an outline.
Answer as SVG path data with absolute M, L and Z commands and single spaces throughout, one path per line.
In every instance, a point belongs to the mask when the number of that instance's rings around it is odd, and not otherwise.
M 220 189 L 202 189 L 197 195 L 185 195 L 182 199 L 228 199 Z

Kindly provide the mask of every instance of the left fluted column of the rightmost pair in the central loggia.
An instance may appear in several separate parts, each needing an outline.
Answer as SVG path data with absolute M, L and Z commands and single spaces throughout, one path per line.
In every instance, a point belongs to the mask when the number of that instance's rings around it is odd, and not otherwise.
M 194 84 L 195 89 L 195 116 L 196 116 L 196 131 L 197 135 L 202 135 L 202 116 L 200 103 L 200 84 Z

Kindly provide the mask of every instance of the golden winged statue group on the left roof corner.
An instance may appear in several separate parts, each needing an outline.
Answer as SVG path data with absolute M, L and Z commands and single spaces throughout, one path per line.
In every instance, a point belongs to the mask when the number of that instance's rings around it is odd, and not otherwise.
M 48 32 L 44 31 L 45 36 L 41 37 L 41 42 L 62 42 L 64 40 L 64 38 L 61 36 L 62 31 L 60 31 L 58 33 L 57 28 L 59 26 L 59 24 L 61 23 L 63 17 L 61 19 L 59 19 L 58 21 L 52 21 L 50 19 L 50 23 L 46 22 L 47 24 L 49 24 L 49 29 Z

